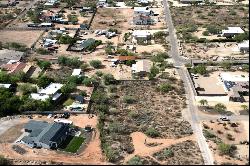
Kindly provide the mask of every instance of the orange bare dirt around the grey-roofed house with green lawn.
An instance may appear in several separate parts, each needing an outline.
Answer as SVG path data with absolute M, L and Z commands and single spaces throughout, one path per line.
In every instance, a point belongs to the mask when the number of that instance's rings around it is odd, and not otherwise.
M 46 120 L 52 121 L 53 119 L 47 119 L 45 116 L 42 118 L 34 118 L 37 120 Z M 74 122 L 75 125 L 79 127 L 84 127 L 89 124 L 96 128 L 97 125 L 97 117 L 94 116 L 92 119 L 88 118 L 88 115 L 78 115 L 71 116 L 70 120 Z M 24 119 L 24 121 L 28 121 L 28 119 Z M 40 161 L 56 161 L 56 162 L 64 162 L 68 164 L 107 164 L 102 155 L 100 140 L 99 140 L 99 132 L 96 130 L 96 134 L 92 137 L 91 141 L 87 145 L 86 149 L 81 152 L 79 155 L 68 155 L 64 153 L 59 153 L 57 151 L 51 151 L 46 149 L 30 149 L 24 145 L 20 145 L 27 153 L 24 155 L 17 154 L 11 148 L 12 144 L 9 143 L 1 143 L 0 144 L 0 154 L 9 158 L 15 159 L 34 159 Z

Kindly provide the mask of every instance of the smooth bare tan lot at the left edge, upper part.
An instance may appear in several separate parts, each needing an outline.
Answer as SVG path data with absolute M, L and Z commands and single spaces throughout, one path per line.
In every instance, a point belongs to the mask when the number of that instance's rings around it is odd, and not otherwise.
M 43 31 L 0 31 L 1 42 L 16 42 L 28 47 L 38 39 Z

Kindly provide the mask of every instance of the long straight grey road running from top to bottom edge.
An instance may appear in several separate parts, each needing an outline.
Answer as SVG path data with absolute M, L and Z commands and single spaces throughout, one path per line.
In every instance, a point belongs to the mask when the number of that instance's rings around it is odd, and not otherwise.
M 187 60 L 179 56 L 177 36 L 175 33 L 174 25 L 172 23 L 172 17 L 171 17 L 171 13 L 170 13 L 167 0 L 163 0 L 163 5 L 164 5 L 166 22 L 167 22 L 167 26 L 169 29 L 169 38 L 170 38 L 170 45 L 171 45 L 170 56 L 173 58 L 174 66 L 179 66 L 177 68 L 177 71 L 181 79 L 184 82 L 187 98 L 189 99 L 188 100 L 188 106 L 189 106 L 188 113 L 190 117 L 190 124 L 197 137 L 197 142 L 200 147 L 200 150 L 204 159 L 204 163 L 206 165 L 213 165 L 214 160 L 213 160 L 212 153 L 208 147 L 205 137 L 203 136 L 202 126 L 199 123 L 199 120 L 197 118 L 198 108 L 194 104 L 194 94 L 193 94 L 191 82 L 189 81 L 188 74 L 185 71 L 185 68 L 182 67 L 187 62 Z

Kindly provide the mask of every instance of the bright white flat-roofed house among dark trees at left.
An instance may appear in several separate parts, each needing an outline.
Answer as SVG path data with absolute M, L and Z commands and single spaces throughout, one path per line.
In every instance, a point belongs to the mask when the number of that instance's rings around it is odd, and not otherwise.
M 62 93 L 58 92 L 62 88 L 62 86 L 63 84 L 51 83 L 45 89 L 39 90 L 38 93 L 31 93 L 31 98 L 35 100 L 45 101 L 49 97 L 51 97 L 53 101 L 56 101 L 62 95 Z

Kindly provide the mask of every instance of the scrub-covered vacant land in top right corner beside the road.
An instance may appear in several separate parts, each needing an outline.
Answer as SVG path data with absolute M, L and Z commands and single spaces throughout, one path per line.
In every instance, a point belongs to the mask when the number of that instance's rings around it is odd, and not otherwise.
M 195 34 L 198 28 L 206 29 L 207 35 L 218 34 L 227 27 L 241 27 L 249 30 L 248 7 L 243 5 L 234 6 L 189 6 L 172 7 L 172 18 L 179 38 L 185 41 L 197 40 L 202 37 L 201 34 Z M 204 31 L 201 31 L 203 33 Z M 181 35 L 180 35 L 181 34 Z M 216 36 L 207 36 L 211 39 Z

